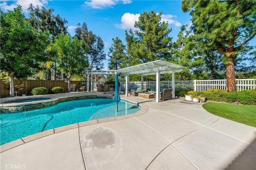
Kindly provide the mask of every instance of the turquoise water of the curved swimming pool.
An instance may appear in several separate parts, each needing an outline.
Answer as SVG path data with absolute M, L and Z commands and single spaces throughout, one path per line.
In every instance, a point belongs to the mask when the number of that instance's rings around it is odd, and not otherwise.
M 120 101 L 118 112 L 113 99 L 83 99 L 27 112 L 2 113 L 0 145 L 56 127 L 94 119 L 128 115 L 140 111 L 138 105 Z

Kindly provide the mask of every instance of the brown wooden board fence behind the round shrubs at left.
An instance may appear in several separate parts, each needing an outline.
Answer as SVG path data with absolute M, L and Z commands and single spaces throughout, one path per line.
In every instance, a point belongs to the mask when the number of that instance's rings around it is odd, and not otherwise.
M 1 87 L 1 98 L 8 97 L 10 93 L 10 83 L 6 82 L 5 80 L 0 80 L 0 87 Z M 71 90 L 75 89 L 77 90 L 79 87 L 84 86 L 84 91 L 86 91 L 86 84 L 84 81 L 70 81 L 70 88 Z M 48 89 L 48 93 L 51 93 L 51 89 L 53 87 L 62 87 L 63 92 L 68 91 L 68 82 L 62 81 L 62 80 L 14 80 L 14 86 L 20 85 L 19 88 L 14 88 L 14 91 L 17 91 L 17 96 L 24 95 L 31 95 L 32 89 L 35 87 L 46 87 Z M 72 89 L 73 87 L 73 89 Z

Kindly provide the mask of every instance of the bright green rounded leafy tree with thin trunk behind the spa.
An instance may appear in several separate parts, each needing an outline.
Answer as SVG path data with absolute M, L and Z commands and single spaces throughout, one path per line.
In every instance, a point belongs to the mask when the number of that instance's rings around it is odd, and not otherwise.
M 67 75 L 68 92 L 70 92 L 70 79 L 72 75 L 81 74 L 84 67 L 88 66 L 84 58 L 84 49 L 82 42 L 70 35 L 60 34 L 55 43 L 58 51 L 58 64 Z

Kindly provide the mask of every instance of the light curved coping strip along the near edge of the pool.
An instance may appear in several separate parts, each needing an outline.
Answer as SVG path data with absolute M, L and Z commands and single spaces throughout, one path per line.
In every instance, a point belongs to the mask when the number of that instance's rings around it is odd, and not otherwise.
M 6 144 L 2 144 L 0 145 L 0 153 L 5 152 L 6 150 L 15 148 L 17 146 L 20 146 L 22 144 L 31 142 L 33 140 L 39 139 L 39 138 L 43 138 L 45 136 L 49 136 L 58 132 L 63 132 L 66 130 L 70 130 L 70 129 L 74 129 L 74 128 L 80 128 L 80 127 L 85 127 L 88 125 L 94 125 L 94 124 L 98 124 L 98 123 L 104 123 L 104 122 L 110 122 L 110 121 L 118 121 L 118 120 L 122 120 L 122 119 L 129 119 L 132 117 L 137 117 L 139 115 L 143 115 L 144 113 L 146 113 L 148 111 L 148 106 L 145 103 L 137 103 L 135 101 L 132 101 L 131 99 L 124 99 L 123 97 L 120 97 L 123 101 L 128 101 L 130 103 L 134 103 L 140 106 L 140 111 L 136 112 L 136 113 L 132 113 L 130 115 L 123 115 L 123 116 L 118 116 L 118 117 L 110 117 L 110 118 L 103 118 L 103 119 L 95 119 L 92 121 L 85 121 L 85 122 L 80 122 L 80 123 L 74 123 L 71 125 L 66 125 L 63 127 L 57 127 L 57 128 L 52 128 L 50 130 L 46 130 L 43 132 L 38 132 L 35 134 L 31 134 L 29 136 L 25 136 L 23 138 L 14 140 L 12 142 L 8 142 Z

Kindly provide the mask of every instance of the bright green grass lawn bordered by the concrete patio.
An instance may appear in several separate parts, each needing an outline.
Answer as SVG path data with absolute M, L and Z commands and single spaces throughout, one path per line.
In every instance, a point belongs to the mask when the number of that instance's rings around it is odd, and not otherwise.
M 220 117 L 256 127 L 256 107 L 226 103 L 208 102 L 203 108 Z

